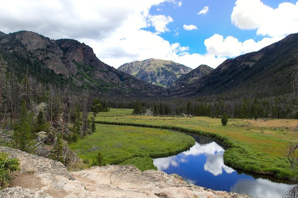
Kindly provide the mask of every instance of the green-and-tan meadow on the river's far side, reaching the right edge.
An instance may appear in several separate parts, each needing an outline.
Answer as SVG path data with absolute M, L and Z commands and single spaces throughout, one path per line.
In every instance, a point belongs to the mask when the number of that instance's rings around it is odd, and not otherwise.
M 277 178 L 289 178 L 293 174 L 284 153 L 288 144 L 296 142 L 291 127 L 296 126 L 297 120 L 231 119 L 227 126 L 222 126 L 220 119 L 216 118 L 136 116 L 128 115 L 129 110 L 121 115 L 119 110 L 111 110 L 111 113 L 105 113 L 104 116 L 98 115 L 96 121 L 178 129 L 215 137 L 229 147 L 224 153 L 224 162 L 227 165 Z

